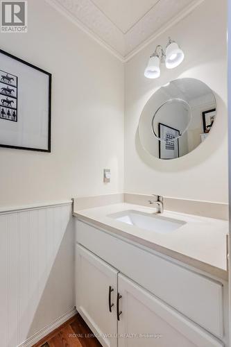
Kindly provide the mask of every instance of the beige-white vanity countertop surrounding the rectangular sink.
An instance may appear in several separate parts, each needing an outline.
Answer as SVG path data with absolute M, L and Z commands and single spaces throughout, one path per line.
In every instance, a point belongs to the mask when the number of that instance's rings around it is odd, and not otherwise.
M 98 227 L 131 239 L 143 246 L 153 248 L 155 251 L 174 257 L 214 276 L 228 279 L 226 260 L 228 221 L 164 211 L 161 216 L 180 219 L 186 224 L 173 232 L 160 234 L 108 217 L 109 214 L 125 210 L 137 210 L 146 213 L 155 211 L 154 208 L 118 203 L 74 211 L 74 215 L 78 219 L 94 223 Z

